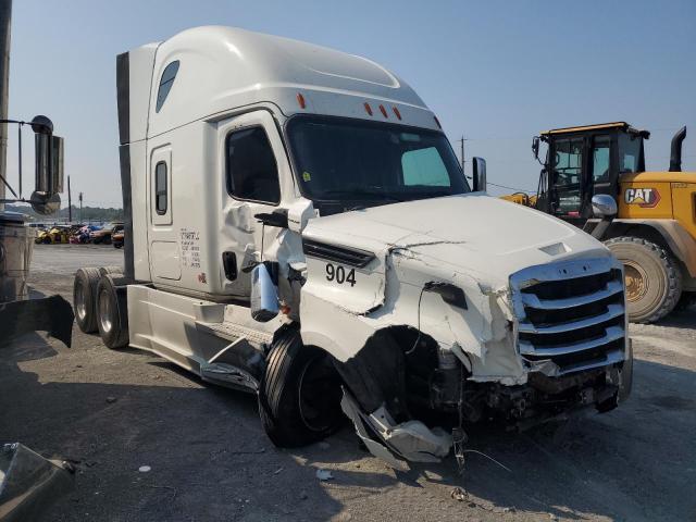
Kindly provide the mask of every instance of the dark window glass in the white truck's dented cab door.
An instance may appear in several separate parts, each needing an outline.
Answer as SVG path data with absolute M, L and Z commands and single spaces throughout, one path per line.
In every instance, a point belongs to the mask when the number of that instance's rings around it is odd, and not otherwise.
M 225 141 L 227 192 L 238 199 L 281 202 L 278 169 L 262 127 L 231 133 Z

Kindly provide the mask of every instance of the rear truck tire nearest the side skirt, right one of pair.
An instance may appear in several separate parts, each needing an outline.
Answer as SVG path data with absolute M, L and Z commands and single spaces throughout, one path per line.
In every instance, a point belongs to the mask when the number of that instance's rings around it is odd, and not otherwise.
M 107 348 L 128 346 L 127 279 L 104 274 L 97 285 L 97 326 Z

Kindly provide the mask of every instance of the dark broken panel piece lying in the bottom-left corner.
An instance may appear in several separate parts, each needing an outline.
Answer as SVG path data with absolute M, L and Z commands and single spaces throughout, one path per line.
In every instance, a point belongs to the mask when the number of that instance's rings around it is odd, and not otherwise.
M 38 520 L 72 487 L 73 475 L 60 462 L 18 443 L 0 447 L 0 522 Z

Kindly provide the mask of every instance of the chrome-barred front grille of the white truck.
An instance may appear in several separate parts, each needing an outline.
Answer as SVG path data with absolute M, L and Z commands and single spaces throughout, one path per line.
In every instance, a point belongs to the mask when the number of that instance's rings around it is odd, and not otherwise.
M 561 374 L 623 360 L 623 272 L 617 260 L 531 266 L 513 274 L 510 286 L 525 360 L 551 360 Z

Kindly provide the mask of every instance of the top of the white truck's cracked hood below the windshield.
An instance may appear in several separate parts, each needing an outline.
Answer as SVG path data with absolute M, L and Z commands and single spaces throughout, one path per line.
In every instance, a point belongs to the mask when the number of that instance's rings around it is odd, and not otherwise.
M 409 250 L 490 285 L 526 266 L 606 257 L 592 236 L 550 215 L 481 192 L 408 201 L 311 220 L 304 238 L 369 250 Z

